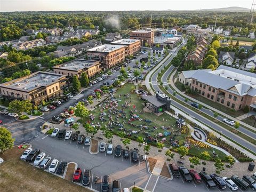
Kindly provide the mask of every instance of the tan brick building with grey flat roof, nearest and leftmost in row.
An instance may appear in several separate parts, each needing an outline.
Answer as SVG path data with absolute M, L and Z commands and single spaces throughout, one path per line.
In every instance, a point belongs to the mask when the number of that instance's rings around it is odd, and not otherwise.
M 68 88 L 65 75 L 38 71 L 26 77 L 0 84 L 6 100 L 30 100 L 35 106 L 59 97 Z

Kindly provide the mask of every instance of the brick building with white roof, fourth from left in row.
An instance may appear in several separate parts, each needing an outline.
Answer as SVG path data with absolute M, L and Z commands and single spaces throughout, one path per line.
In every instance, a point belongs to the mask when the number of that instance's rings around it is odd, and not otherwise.
M 125 57 L 140 51 L 139 39 L 120 39 L 118 41 L 111 42 L 111 45 L 125 45 Z

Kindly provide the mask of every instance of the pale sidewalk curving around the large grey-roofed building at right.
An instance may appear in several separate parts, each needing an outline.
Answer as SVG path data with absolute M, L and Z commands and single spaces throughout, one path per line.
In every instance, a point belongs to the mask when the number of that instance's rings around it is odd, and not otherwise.
M 189 97 L 189 96 L 186 95 L 185 93 L 182 93 L 182 92 L 174 85 L 174 83 L 173 83 L 173 81 L 172 81 L 173 76 L 174 76 L 174 74 L 176 73 L 176 70 L 177 70 L 177 69 L 174 70 L 174 72 L 172 73 L 172 75 L 171 75 L 171 77 L 170 77 L 170 84 L 171 84 L 171 86 L 173 87 L 173 89 L 174 89 L 176 92 L 178 92 L 180 95 L 182 95 L 182 97 L 185 97 L 185 98 L 188 98 L 188 99 L 191 100 L 191 101 L 197 102 L 197 103 L 199 103 L 199 104 L 201 104 L 201 105 L 203 105 L 203 106 L 205 106 L 205 107 L 211 109 L 212 111 L 216 111 L 218 114 L 220 114 L 220 115 L 222 115 L 222 116 L 224 116 L 224 117 L 227 117 L 227 118 L 229 118 L 229 119 L 234 119 L 235 121 L 238 121 L 240 125 L 243 125 L 243 126 L 245 126 L 245 127 L 249 127 L 251 130 L 256 131 L 256 128 L 255 128 L 255 127 L 253 127 L 253 126 L 251 126 L 251 125 L 248 125 L 248 124 L 246 124 L 246 123 L 244 123 L 244 122 L 242 122 L 242 121 L 239 121 L 238 118 L 231 117 L 230 115 L 228 115 L 228 114 L 226 114 L 226 113 L 223 113 L 222 111 L 220 111 L 220 110 L 218 110 L 218 109 L 215 109 L 215 108 L 213 108 L 213 107 L 211 107 L 211 106 L 209 106 L 209 105 L 206 105 L 205 103 L 203 103 L 203 102 L 201 102 L 201 101 L 198 101 L 198 100 L 196 100 L 196 99 L 194 99 L 194 98 Z

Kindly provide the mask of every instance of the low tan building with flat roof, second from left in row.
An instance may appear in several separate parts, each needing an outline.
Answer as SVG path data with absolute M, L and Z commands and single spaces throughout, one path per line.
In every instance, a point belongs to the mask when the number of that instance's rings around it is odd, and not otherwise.
M 92 77 L 101 71 L 101 63 L 99 61 L 76 59 L 58 66 L 52 67 L 55 74 L 73 77 L 74 75 L 81 77 L 85 72 L 88 77 Z

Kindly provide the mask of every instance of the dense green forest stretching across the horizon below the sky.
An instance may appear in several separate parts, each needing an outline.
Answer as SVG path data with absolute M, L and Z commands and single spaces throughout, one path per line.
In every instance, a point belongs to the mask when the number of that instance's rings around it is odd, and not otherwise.
M 200 26 L 248 27 L 248 12 L 211 12 L 211 11 L 67 11 L 67 12 L 2 12 L 0 13 L 0 41 L 17 39 L 26 35 L 26 29 L 65 28 L 100 26 L 107 31 L 126 30 L 140 26 L 172 27 L 186 24 Z

